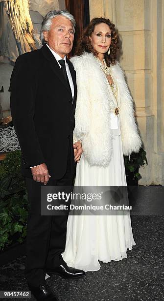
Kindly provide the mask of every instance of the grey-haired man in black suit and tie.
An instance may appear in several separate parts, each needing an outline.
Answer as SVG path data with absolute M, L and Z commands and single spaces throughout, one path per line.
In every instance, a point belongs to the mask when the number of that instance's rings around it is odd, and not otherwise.
M 74 39 L 75 21 L 68 11 L 51 11 L 43 20 L 43 47 L 21 55 L 11 76 L 11 112 L 22 150 L 23 175 L 30 204 L 27 224 L 26 276 L 37 300 L 57 300 L 45 274 L 64 278 L 85 274 L 67 266 L 67 216 L 41 215 L 41 186 L 70 186 L 80 142 L 73 146 L 76 77 L 66 55 Z M 74 156 L 74 151 L 75 156 Z

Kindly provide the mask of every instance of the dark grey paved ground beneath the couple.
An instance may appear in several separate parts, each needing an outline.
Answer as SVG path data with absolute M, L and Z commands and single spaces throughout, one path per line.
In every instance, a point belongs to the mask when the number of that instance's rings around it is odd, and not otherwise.
M 87 272 L 78 280 L 56 275 L 47 279 L 59 300 L 163 301 L 164 216 L 132 216 L 132 228 L 136 245 L 128 251 L 127 259 L 100 263 L 99 271 Z M 0 267 L 1 290 L 27 290 L 24 259 Z

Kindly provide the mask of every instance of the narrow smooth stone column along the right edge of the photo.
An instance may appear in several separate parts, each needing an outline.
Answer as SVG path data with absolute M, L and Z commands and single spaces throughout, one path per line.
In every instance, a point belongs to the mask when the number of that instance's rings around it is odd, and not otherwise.
M 164 185 L 164 0 L 152 2 L 153 183 Z

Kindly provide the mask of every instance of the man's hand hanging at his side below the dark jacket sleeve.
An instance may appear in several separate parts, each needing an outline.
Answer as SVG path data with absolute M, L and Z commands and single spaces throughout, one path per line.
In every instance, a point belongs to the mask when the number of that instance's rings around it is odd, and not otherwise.
M 31 172 L 34 181 L 44 183 L 44 185 L 47 184 L 49 178 L 51 177 L 48 173 L 47 165 L 45 163 L 31 167 Z

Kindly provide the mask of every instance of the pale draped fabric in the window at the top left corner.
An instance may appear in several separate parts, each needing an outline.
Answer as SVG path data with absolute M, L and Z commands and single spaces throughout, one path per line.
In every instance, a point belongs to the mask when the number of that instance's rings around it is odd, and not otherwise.
M 28 0 L 0 1 L 0 55 L 15 61 L 23 53 L 37 49 Z

